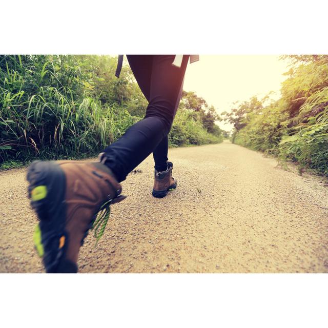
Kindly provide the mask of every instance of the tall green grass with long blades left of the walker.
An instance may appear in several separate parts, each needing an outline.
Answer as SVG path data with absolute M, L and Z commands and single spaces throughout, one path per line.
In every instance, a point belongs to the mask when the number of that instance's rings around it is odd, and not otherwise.
M 33 74 L 27 68 L 15 70 L 16 65 L 21 68 L 20 60 L 11 63 L 12 69 L 8 61 L 0 85 L 2 161 L 94 155 L 139 119 L 116 104 L 102 105 L 86 94 L 76 96 L 69 87 L 45 85 L 48 62 L 36 79 L 29 79 Z M 51 74 L 57 78 L 56 71 Z

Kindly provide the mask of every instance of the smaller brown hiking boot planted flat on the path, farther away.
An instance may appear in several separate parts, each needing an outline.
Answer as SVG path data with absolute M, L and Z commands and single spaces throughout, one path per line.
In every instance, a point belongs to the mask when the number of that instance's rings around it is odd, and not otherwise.
M 172 177 L 173 163 L 167 162 L 166 171 L 158 172 L 155 169 L 155 182 L 153 187 L 153 196 L 157 198 L 165 197 L 168 191 L 176 188 L 176 179 Z

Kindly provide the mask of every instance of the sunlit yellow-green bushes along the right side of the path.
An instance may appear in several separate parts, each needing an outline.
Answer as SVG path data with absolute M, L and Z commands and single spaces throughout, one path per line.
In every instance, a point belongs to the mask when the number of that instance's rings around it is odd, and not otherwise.
M 328 56 L 283 56 L 293 61 L 281 98 L 239 104 L 222 113 L 234 124 L 233 142 L 272 153 L 328 176 Z

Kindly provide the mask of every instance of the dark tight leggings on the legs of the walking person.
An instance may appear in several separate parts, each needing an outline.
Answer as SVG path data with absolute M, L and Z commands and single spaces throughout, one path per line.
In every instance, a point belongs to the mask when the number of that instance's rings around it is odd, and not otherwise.
M 168 133 L 179 105 L 189 55 L 181 67 L 172 66 L 174 55 L 127 55 L 131 70 L 149 105 L 146 116 L 108 146 L 106 165 L 119 182 L 153 152 L 155 167 L 166 167 Z

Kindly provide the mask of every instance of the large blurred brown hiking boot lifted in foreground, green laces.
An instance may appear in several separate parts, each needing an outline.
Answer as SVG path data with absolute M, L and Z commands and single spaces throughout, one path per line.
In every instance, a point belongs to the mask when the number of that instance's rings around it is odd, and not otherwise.
M 34 161 L 27 180 L 39 219 L 33 240 L 46 272 L 76 273 L 78 252 L 89 229 L 94 224 L 95 232 L 102 234 L 110 204 L 125 198 L 120 184 L 100 161 Z

